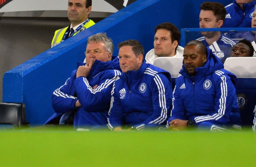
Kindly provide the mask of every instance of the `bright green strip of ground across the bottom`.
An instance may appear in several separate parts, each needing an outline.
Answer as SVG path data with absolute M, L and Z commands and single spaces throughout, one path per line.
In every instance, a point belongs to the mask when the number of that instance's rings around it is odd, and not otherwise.
M 255 139 L 250 130 L 2 130 L 0 166 L 255 166 Z

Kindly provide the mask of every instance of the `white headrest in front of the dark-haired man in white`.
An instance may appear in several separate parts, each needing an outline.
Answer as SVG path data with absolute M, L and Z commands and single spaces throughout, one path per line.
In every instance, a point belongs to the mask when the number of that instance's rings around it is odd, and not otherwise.
M 172 78 L 176 78 L 182 68 L 183 57 L 158 57 L 153 65 L 168 71 Z

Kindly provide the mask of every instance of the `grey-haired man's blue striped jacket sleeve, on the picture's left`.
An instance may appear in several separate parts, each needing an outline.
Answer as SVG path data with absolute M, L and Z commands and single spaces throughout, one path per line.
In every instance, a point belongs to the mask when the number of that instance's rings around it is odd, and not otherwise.
M 72 77 L 68 78 L 64 85 L 53 92 L 52 106 L 55 112 L 67 112 L 77 109 L 74 106 L 78 99 L 68 93 L 70 91 L 69 87 L 71 84 Z

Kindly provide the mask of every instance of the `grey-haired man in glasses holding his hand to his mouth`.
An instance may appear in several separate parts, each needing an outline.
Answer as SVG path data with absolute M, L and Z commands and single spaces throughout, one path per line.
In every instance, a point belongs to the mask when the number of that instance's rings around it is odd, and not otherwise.
M 45 124 L 73 125 L 74 128 L 106 126 L 111 89 L 120 71 L 118 58 L 111 61 L 113 42 L 105 33 L 87 40 L 86 64 L 78 62 L 65 84 L 52 94 L 56 113 Z

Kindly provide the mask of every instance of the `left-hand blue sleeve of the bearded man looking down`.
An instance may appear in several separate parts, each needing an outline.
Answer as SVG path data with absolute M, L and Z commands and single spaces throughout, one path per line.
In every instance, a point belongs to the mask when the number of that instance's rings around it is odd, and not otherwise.
M 176 79 L 176 85 L 179 80 Z M 176 88 L 176 85 L 173 90 L 173 98 L 172 98 L 172 110 L 171 110 L 171 117 L 168 119 L 166 127 L 169 127 L 169 122 L 174 119 L 182 119 L 186 120 L 185 118 L 185 107 L 182 99 L 180 98 L 179 89 Z

